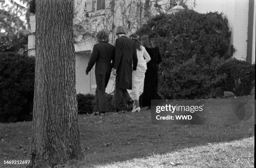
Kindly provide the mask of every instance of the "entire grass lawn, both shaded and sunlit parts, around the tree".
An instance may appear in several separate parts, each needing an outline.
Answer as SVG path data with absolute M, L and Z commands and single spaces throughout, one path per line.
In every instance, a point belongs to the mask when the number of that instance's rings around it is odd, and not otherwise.
M 232 99 L 248 100 L 254 109 L 254 96 Z M 225 102 L 212 105 L 205 125 L 152 125 L 149 110 L 79 115 L 84 159 L 66 167 L 253 167 L 254 112 L 248 120 L 220 122 L 234 113 Z M 0 124 L 1 168 L 3 160 L 25 159 L 31 125 Z

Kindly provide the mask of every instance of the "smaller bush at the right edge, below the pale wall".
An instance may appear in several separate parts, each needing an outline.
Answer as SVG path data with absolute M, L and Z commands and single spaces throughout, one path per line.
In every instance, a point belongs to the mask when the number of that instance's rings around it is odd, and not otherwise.
M 249 95 L 255 84 L 255 64 L 246 61 L 230 59 L 218 68 L 218 74 L 227 76 L 220 84 L 223 90 L 237 96 Z

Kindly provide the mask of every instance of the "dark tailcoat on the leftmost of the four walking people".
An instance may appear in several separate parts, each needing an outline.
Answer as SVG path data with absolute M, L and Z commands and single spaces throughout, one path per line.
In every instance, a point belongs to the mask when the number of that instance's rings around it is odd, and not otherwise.
M 105 89 L 111 74 L 111 60 L 115 58 L 115 46 L 108 42 L 101 41 L 93 46 L 92 54 L 86 68 L 88 73 L 95 62 L 95 78 L 98 89 Z

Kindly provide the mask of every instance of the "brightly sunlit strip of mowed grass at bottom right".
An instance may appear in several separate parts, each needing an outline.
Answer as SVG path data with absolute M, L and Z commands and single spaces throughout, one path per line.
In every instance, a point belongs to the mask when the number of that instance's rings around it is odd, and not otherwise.
M 82 167 L 82 166 L 80 166 Z M 228 143 L 185 148 L 163 155 L 151 155 L 123 162 L 99 165 L 97 168 L 253 168 L 254 137 Z

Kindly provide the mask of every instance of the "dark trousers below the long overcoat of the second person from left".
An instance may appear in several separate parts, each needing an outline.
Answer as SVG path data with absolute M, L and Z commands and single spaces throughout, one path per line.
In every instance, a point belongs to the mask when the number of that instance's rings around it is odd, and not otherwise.
M 127 89 L 122 89 L 115 85 L 115 107 L 116 111 L 127 110 L 127 102 L 131 99 Z

